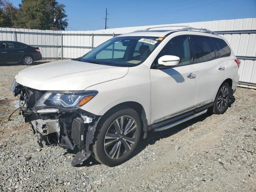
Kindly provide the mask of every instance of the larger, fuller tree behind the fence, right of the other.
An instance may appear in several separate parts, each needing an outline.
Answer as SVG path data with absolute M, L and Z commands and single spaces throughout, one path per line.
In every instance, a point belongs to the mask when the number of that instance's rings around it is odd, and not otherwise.
M 40 30 L 64 30 L 68 26 L 65 5 L 56 0 L 22 0 L 15 26 Z

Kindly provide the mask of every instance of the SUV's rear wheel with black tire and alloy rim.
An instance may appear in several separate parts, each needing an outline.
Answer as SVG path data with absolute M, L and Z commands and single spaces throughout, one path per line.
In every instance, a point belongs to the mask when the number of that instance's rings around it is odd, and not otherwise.
M 218 93 L 216 95 L 214 105 L 212 107 L 212 113 L 224 114 L 224 112 L 226 112 L 226 110 L 228 109 L 229 98 L 230 86 L 228 83 L 224 82 L 220 86 L 220 89 L 218 90 Z M 209 111 L 211 111 L 211 108 L 209 108 Z

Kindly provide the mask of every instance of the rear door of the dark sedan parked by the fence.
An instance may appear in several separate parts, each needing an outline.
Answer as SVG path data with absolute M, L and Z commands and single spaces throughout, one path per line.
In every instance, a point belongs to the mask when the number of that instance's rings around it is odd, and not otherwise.
M 24 50 L 20 43 L 8 42 L 7 53 L 8 53 L 8 60 L 10 62 L 19 62 L 24 55 Z

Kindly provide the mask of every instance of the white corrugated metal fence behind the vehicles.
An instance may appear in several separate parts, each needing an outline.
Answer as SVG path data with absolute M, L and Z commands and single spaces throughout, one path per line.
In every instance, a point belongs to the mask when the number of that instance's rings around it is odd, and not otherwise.
M 171 25 L 189 25 L 194 28 L 207 28 L 224 36 L 230 43 L 236 56 L 241 59 L 241 67 L 239 68 L 240 84 L 243 86 L 256 86 L 256 18 Z M 12 40 L 38 46 L 42 52 L 43 58 L 78 58 L 113 36 L 133 32 L 135 30 L 144 30 L 148 27 L 152 26 L 113 28 L 95 31 L 0 28 L 0 40 Z

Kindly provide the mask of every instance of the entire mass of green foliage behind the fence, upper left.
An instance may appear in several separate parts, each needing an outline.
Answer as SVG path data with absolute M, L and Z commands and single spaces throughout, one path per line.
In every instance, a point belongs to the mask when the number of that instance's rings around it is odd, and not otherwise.
M 56 0 L 22 0 L 19 8 L 15 8 L 6 0 L 0 0 L 0 26 L 65 30 L 68 21 L 64 8 L 65 5 Z

